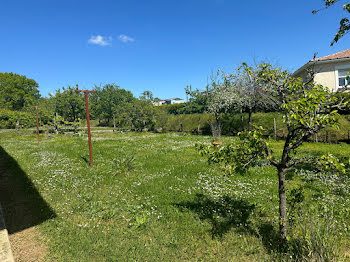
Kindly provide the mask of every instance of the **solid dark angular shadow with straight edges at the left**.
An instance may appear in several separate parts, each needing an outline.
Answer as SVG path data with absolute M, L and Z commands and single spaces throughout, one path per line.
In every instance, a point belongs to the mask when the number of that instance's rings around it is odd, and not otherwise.
M 9 234 L 56 217 L 16 160 L 1 146 L 0 204 Z

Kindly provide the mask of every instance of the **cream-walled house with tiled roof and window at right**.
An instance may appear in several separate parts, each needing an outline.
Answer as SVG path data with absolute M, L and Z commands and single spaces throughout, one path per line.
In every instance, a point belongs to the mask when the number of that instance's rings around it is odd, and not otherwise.
M 332 91 L 350 84 L 350 49 L 313 59 L 293 73 L 294 77 L 307 78 L 307 70 L 313 69 L 314 81 Z

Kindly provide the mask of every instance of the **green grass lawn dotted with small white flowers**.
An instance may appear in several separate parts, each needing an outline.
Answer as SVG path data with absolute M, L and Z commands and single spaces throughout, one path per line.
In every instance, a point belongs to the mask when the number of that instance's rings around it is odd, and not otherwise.
M 198 142 L 211 138 L 96 133 L 91 169 L 86 137 L 43 135 L 38 145 L 32 131 L 2 131 L 0 157 L 11 156 L 39 192 L 42 199 L 36 201 L 52 209 L 54 215 L 37 226 L 49 261 L 292 260 L 276 245 L 275 169 L 223 176 L 197 154 Z M 273 145 L 278 154 L 282 143 Z M 299 151 L 349 156 L 350 146 L 310 143 Z M 300 239 L 307 245 L 323 239 L 339 255 L 335 260 L 350 260 L 348 190 L 334 193 L 296 174 L 288 180 L 289 193 L 299 185 L 305 200 L 296 204 L 295 245 Z

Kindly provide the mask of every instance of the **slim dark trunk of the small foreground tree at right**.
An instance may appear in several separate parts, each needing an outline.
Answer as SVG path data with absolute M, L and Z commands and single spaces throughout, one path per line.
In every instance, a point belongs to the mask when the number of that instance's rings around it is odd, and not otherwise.
M 287 240 L 286 172 L 283 168 L 278 168 L 278 196 L 280 212 L 280 239 L 283 245 Z

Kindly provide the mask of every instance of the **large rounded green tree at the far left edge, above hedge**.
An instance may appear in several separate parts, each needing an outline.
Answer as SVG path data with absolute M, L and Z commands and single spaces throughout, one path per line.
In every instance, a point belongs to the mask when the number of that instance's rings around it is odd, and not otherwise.
M 0 73 L 0 107 L 22 110 L 35 105 L 40 98 L 38 83 L 26 76 Z

